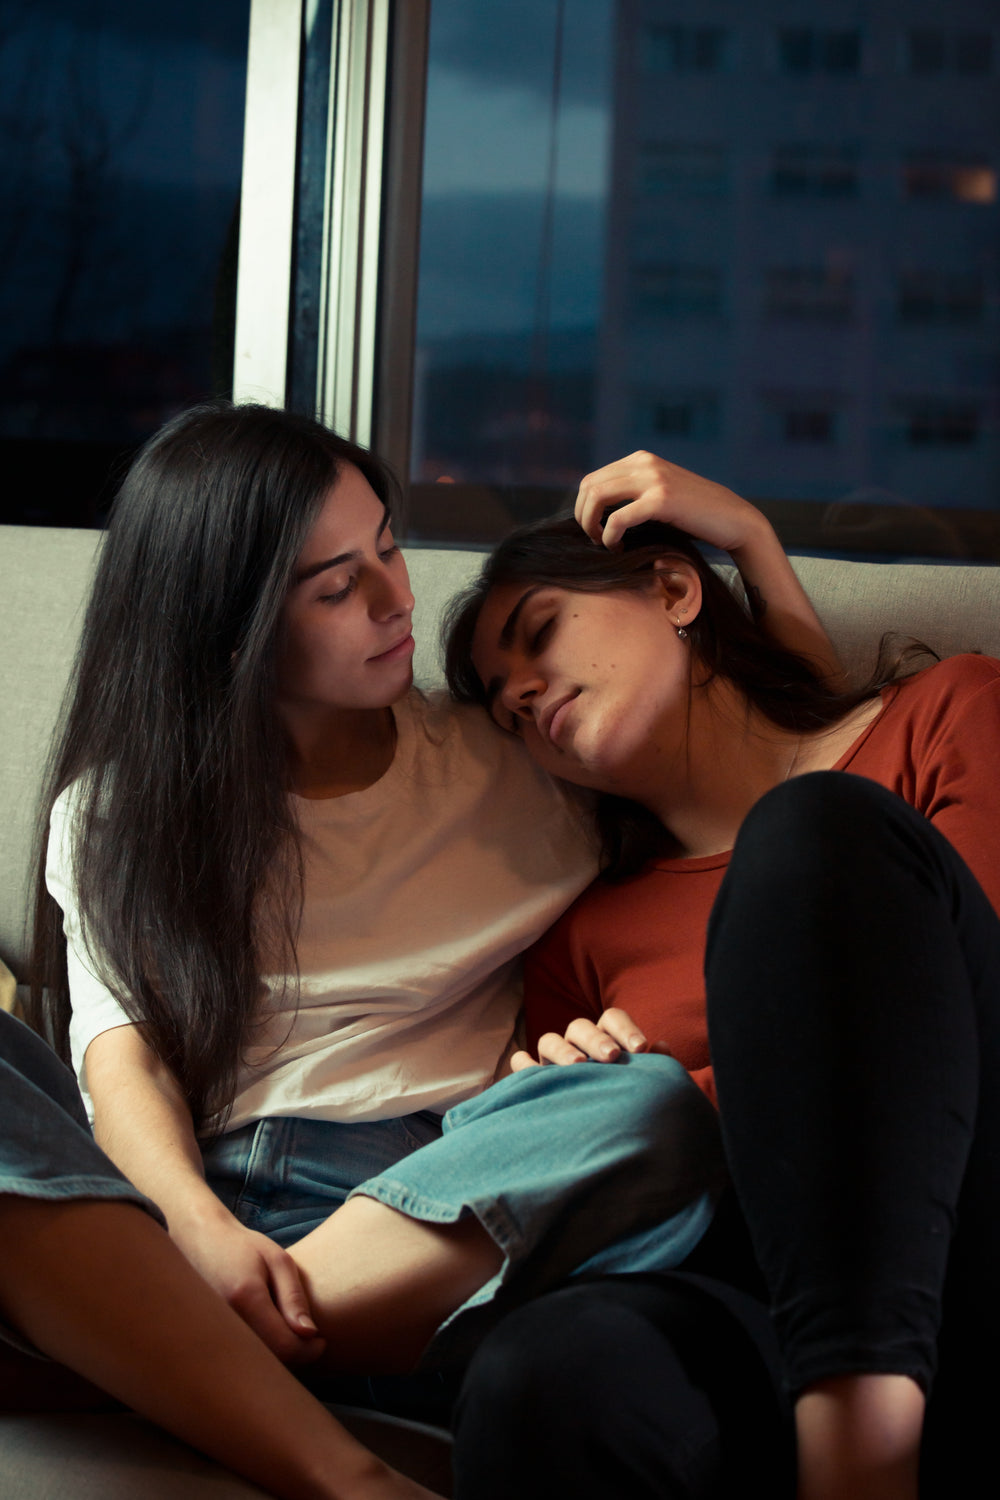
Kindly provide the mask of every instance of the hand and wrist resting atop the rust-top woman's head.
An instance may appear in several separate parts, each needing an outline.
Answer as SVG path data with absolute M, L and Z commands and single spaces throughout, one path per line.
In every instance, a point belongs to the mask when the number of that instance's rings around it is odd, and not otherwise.
M 610 506 L 619 508 L 601 525 Z M 723 552 L 739 552 L 771 530 L 757 507 L 732 489 L 642 452 L 588 474 L 574 513 L 588 537 L 606 548 L 643 520 L 664 520 Z

